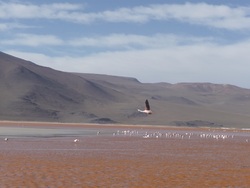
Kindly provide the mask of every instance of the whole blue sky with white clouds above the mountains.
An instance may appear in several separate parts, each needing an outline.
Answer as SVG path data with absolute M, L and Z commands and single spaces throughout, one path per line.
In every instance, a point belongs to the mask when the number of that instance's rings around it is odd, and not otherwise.
M 250 2 L 0 0 L 0 51 L 65 72 L 250 88 Z

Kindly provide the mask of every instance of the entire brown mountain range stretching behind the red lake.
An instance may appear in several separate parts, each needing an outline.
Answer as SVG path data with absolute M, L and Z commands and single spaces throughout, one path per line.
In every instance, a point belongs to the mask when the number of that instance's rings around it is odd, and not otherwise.
M 0 52 L 0 91 L 0 120 L 250 128 L 250 90 L 233 85 L 67 73 Z

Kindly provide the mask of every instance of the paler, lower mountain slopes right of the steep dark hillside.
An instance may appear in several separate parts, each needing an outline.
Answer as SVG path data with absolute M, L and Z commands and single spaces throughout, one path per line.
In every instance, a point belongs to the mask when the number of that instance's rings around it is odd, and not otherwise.
M 123 123 L 250 127 L 249 89 L 212 83 L 140 83 L 133 78 L 80 75 L 132 96 L 116 109 Z M 145 117 L 136 108 L 144 108 L 146 98 L 153 115 Z

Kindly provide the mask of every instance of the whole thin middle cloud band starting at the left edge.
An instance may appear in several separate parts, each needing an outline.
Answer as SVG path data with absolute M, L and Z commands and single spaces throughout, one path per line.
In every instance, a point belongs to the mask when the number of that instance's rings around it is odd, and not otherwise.
M 2 45 L 13 46 L 63 46 L 63 47 L 93 47 L 121 50 L 121 49 L 144 49 L 144 48 L 163 48 L 173 45 L 187 45 L 190 43 L 211 43 L 212 37 L 192 37 L 178 36 L 173 34 L 155 34 L 135 35 L 135 34 L 118 34 L 99 35 L 92 37 L 80 37 L 63 40 L 54 35 L 35 35 L 21 33 L 14 35 L 12 39 L 3 39 Z

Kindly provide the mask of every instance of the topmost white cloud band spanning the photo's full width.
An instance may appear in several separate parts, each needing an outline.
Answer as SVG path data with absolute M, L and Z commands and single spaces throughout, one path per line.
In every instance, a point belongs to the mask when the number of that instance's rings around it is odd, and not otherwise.
M 118 8 L 100 12 L 83 11 L 85 6 L 73 3 L 25 4 L 0 3 L 0 19 L 59 19 L 69 22 L 91 23 L 178 20 L 191 24 L 229 30 L 250 29 L 250 7 L 230 7 L 207 3 L 155 4 L 132 8 Z

